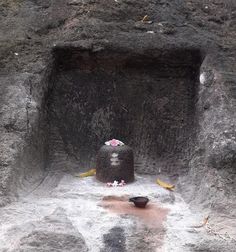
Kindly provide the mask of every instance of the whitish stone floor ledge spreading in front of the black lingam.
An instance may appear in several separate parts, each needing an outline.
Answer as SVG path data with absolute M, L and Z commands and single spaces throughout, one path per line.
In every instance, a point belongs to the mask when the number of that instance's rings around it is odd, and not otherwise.
M 34 191 L 0 208 L 1 252 L 36 250 L 36 244 L 38 249 L 47 246 L 54 251 L 60 246 L 59 251 L 74 251 L 75 246 L 83 246 L 83 240 L 89 252 L 235 250 L 236 241 L 230 237 L 235 229 L 228 235 L 214 231 L 211 219 L 205 227 L 194 228 L 202 223 L 204 213 L 190 211 L 178 192 L 153 183 L 155 176 L 136 175 L 134 183 L 114 188 L 92 177 L 57 175 L 55 181 L 55 172 L 49 174 Z M 144 192 L 150 199 L 145 210 L 128 202 Z

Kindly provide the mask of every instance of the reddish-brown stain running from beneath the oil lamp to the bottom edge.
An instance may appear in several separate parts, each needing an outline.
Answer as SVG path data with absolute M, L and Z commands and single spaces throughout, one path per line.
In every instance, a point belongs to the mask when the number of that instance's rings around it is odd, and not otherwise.
M 148 203 L 146 208 L 137 208 L 128 200 L 128 195 L 105 196 L 100 205 L 107 211 L 120 216 L 136 217 L 133 232 L 126 242 L 132 251 L 162 251 L 165 235 L 163 223 L 169 209 L 162 208 L 157 203 Z

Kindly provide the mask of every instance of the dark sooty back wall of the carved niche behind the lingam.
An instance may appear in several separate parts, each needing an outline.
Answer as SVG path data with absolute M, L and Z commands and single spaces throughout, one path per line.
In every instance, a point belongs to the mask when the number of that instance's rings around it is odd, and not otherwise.
M 54 51 L 48 97 L 49 166 L 93 168 L 105 141 L 134 149 L 137 172 L 186 169 L 195 140 L 200 53 Z

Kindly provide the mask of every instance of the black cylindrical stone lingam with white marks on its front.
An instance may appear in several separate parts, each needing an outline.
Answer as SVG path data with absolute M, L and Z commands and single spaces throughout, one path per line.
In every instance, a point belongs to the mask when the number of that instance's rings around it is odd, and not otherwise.
M 104 145 L 98 151 L 96 178 L 101 182 L 134 180 L 133 150 L 127 145 Z

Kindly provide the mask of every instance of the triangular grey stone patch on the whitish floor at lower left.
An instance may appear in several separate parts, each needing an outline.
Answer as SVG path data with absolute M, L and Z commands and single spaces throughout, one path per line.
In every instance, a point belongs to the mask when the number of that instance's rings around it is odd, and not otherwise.
M 88 251 L 82 235 L 75 230 L 62 208 L 56 209 L 40 222 L 26 223 L 23 229 L 21 235 L 27 233 L 20 238 L 15 248 L 8 251 Z

